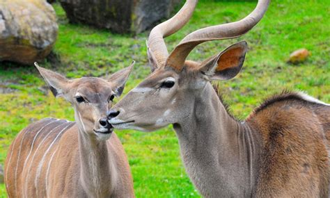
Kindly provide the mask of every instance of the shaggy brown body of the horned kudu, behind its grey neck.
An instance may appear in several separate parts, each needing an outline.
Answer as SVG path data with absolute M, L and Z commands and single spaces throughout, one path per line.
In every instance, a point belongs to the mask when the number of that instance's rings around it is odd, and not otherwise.
M 258 197 L 328 196 L 329 111 L 283 92 L 249 116 L 263 142 Z

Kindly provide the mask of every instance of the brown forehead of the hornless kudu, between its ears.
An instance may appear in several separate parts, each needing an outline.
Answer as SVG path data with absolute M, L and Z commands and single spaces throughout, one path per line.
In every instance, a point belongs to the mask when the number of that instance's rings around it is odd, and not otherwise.
M 107 101 L 109 95 L 113 94 L 111 83 L 93 77 L 74 80 L 72 90 L 73 94 L 81 94 L 93 103 Z

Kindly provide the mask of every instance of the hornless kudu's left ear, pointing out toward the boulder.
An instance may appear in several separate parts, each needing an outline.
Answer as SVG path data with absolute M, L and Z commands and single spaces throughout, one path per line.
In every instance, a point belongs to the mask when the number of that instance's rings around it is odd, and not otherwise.
M 52 91 L 55 97 L 60 97 L 69 90 L 68 84 L 70 82 L 64 76 L 56 72 L 52 72 L 48 69 L 42 68 L 38 65 L 38 63 L 34 63 L 34 65 L 40 72 L 42 78 L 45 79 L 47 85 L 49 86 L 49 89 Z

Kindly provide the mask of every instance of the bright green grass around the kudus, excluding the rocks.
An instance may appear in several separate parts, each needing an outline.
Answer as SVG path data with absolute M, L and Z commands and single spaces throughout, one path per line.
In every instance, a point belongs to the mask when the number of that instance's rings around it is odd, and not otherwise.
M 249 43 L 242 73 L 221 81 L 225 100 L 233 115 L 244 119 L 262 99 L 283 89 L 305 90 L 330 103 L 330 9 L 329 0 L 274 0 L 264 19 L 244 37 L 202 44 L 189 58 L 203 60 L 237 40 Z M 51 56 L 42 67 L 69 78 L 105 76 L 136 60 L 125 92 L 132 89 L 150 69 L 146 35 L 116 35 L 88 26 L 69 24 L 61 6 L 59 34 Z M 249 14 L 255 1 L 207 1 L 198 3 L 191 22 L 170 38 L 171 50 L 187 33 L 204 26 L 232 22 Z M 311 51 L 305 63 L 286 63 L 299 48 Z M 43 117 L 74 119 L 73 109 L 63 99 L 45 91 L 45 83 L 32 65 L 0 63 L 0 164 L 10 142 L 21 129 Z M 118 100 L 117 100 L 118 101 Z M 178 140 L 171 126 L 156 133 L 117 131 L 134 176 L 136 197 L 199 197 L 180 160 Z M 0 197 L 6 197 L 0 185 Z

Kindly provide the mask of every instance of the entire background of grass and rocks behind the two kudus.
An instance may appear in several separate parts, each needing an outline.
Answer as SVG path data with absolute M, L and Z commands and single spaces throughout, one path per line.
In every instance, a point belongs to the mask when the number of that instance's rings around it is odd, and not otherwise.
M 187 26 L 166 38 L 168 50 L 198 28 L 242 19 L 256 2 L 201 0 Z M 3 163 L 15 135 L 44 117 L 74 120 L 70 104 L 54 98 L 33 62 L 79 78 L 107 76 L 136 60 L 125 95 L 150 73 L 145 44 L 150 28 L 183 3 L 0 0 L 0 197 L 6 197 Z M 272 0 L 265 17 L 242 38 L 201 44 L 189 59 L 201 61 L 239 40 L 248 42 L 242 72 L 219 82 L 238 119 L 284 89 L 304 90 L 330 103 L 329 5 L 330 0 Z M 136 197 L 200 197 L 182 166 L 172 126 L 155 133 L 116 133 L 129 158 Z

